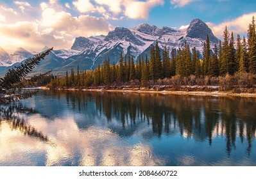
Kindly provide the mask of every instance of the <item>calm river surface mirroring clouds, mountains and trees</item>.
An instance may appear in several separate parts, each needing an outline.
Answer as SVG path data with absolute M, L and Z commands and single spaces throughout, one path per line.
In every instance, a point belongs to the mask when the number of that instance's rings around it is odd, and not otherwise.
M 0 166 L 256 166 L 256 98 L 39 91 L 0 123 Z

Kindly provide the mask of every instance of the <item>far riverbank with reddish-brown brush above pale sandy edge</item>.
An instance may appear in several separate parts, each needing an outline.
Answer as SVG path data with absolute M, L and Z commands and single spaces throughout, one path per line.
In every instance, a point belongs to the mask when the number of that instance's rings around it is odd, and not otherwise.
M 40 89 L 49 89 L 41 87 Z M 196 95 L 214 97 L 256 97 L 255 88 L 232 89 L 219 91 L 218 86 L 182 86 L 180 88 L 166 88 L 166 86 L 139 87 L 122 86 L 119 88 L 99 86 L 98 88 L 57 88 L 57 90 L 70 91 L 98 91 L 98 92 L 119 92 L 119 93 L 160 93 L 171 95 Z

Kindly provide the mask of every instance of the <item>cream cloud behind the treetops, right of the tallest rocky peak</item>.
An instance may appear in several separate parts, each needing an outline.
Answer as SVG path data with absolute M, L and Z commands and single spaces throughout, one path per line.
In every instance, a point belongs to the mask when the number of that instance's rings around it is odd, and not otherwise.
M 228 27 L 228 31 L 233 31 L 235 34 L 244 34 L 247 32 L 249 24 L 252 22 L 252 17 L 256 17 L 256 12 L 244 14 L 241 17 L 232 19 L 221 24 L 212 24 L 210 22 L 207 25 L 212 29 L 214 35 L 218 38 L 223 38 L 223 31 L 225 26 Z

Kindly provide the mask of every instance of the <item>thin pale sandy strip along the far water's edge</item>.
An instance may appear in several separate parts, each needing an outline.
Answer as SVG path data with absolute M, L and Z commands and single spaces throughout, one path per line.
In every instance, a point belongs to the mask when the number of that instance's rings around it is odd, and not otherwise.
M 49 90 L 46 86 L 40 89 Z M 182 90 L 147 90 L 147 89 L 78 89 L 78 88 L 56 88 L 53 90 L 69 90 L 69 91 L 95 91 L 95 92 L 118 92 L 118 93 L 156 93 L 164 95 L 193 95 L 193 96 L 210 96 L 210 97 L 255 97 L 256 93 L 234 93 L 233 91 L 182 91 Z

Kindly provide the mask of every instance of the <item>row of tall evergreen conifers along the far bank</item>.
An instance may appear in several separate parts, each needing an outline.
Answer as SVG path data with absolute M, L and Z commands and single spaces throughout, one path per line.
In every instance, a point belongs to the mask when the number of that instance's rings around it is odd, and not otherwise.
M 214 46 L 212 49 L 211 46 Z M 121 52 L 118 64 L 110 64 L 106 59 L 94 70 L 80 71 L 79 66 L 66 72 L 65 77 L 55 77 L 49 83 L 52 88 L 110 86 L 110 85 L 147 85 L 157 84 L 163 79 L 178 77 L 200 79 L 207 77 L 221 81 L 221 77 L 245 77 L 254 84 L 256 75 L 256 26 L 255 18 L 248 26 L 247 38 L 237 35 L 236 42 L 233 32 L 225 27 L 223 42 L 211 45 L 209 36 L 203 44 L 203 54 L 196 47 L 192 49 L 185 43 L 183 48 L 172 49 L 164 47 L 162 52 L 158 42 L 151 47 L 150 56 L 139 56 L 137 63 L 130 54 L 124 56 Z M 243 81 L 239 79 L 238 81 Z

